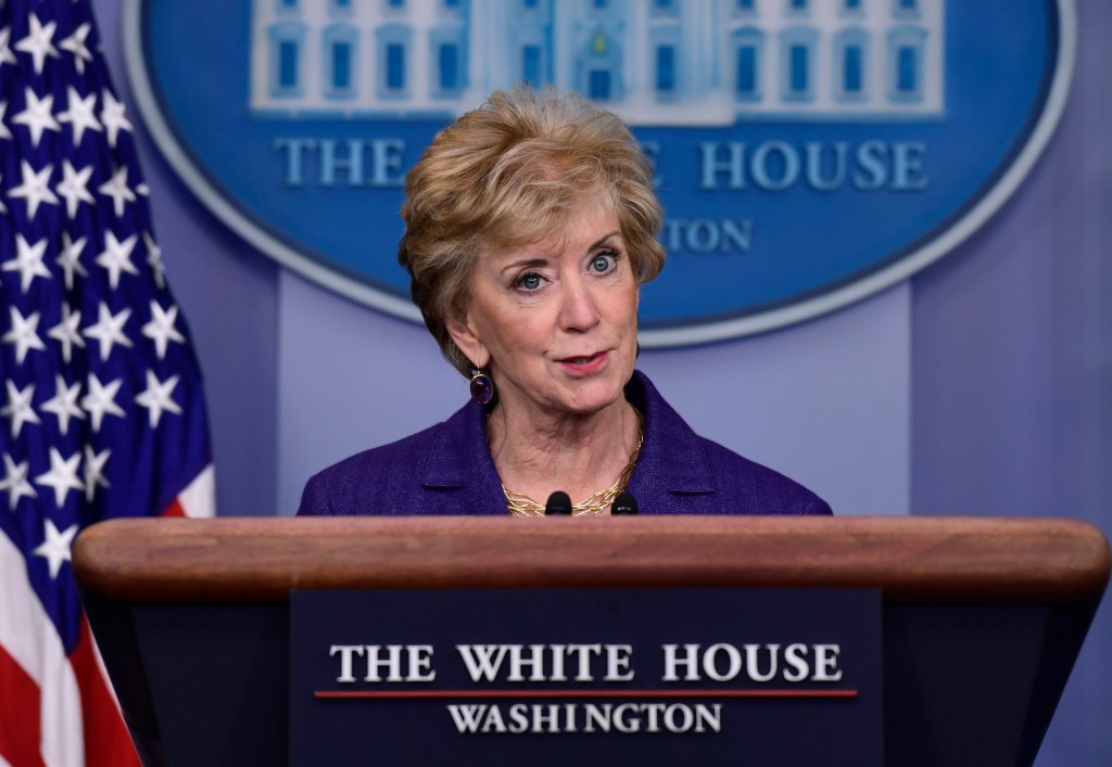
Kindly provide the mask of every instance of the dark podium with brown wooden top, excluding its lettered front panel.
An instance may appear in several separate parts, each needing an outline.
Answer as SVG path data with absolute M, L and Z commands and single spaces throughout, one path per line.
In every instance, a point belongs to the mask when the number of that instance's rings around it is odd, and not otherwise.
M 1029 765 L 1109 568 L 1095 527 L 1019 518 L 117 519 L 73 546 L 158 765 L 286 763 L 291 589 L 453 588 L 878 588 L 885 763 Z

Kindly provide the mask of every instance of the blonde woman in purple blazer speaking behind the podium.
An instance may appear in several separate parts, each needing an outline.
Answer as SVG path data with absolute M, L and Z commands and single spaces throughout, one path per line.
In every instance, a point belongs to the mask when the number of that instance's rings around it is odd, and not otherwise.
M 810 490 L 696 436 L 637 358 L 641 285 L 664 263 L 652 169 L 574 94 L 497 92 L 406 178 L 398 260 L 473 401 L 309 480 L 302 515 L 830 514 Z

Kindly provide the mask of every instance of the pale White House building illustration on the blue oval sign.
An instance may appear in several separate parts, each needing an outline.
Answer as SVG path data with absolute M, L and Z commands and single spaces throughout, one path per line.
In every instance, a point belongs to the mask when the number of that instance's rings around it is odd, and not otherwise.
M 455 117 L 519 82 L 633 124 L 931 119 L 945 0 L 252 0 L 257 117 Z

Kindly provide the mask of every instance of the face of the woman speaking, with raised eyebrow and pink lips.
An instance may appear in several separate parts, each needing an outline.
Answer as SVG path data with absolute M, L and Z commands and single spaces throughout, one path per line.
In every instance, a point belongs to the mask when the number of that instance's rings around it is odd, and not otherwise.
M 590 199 L 556 237 L 484 249 L 466 322 L 449 330 L 504 407 L 593 414 L 622 397 L 637 356 L 638 285 L 617 216 Z

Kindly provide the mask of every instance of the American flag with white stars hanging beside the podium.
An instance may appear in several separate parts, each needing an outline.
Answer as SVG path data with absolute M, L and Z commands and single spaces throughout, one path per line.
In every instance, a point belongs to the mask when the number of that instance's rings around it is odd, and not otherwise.
M 133 130 L 89 0 L 0 0 L 0 765 L 137 763 L 70 546 L 214 509 Z

